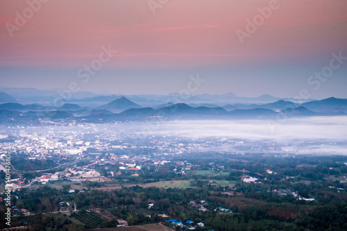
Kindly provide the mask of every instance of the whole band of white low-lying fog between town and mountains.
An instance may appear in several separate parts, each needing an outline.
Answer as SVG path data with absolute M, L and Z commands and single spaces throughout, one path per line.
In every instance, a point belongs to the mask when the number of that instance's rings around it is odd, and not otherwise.
M 118 139 L 134 144 L 143 137 L 151 139 L 180 139 L 208 141 L 210 138 L 245 141 L 244 145 L 212 146 L 213 151 L 267 152 L 270 146 L 276 151 L 298 154 L 347 155 L 347 117 L 303 117 L 273 120 L 176 120 L 130 122 L 115 124 L 84 124 L 83 126 L 42 126 L 41 128 L 4 128 L 0 135 L 26 130 L 59 137 L 79 134 L 82 139 Z M 17 130 L 17 132 L 15 132 Z M 5 134 L 5 133 L 4 133 Z M 5 134 L 6 135 L 6 134 Z M 99 136 L 100 135 L 100 136 Z M 112 138 L 110 138 L 112 137 Z M 140 139 L 138 139 L 138 138 Z M 192 139 L 194 138 L 194 140 Z M 149 139 L 146 139 L 149 140 Z M 272 145 L 275 143 L 274 145 Z M 272 152 L 272 151 L 271 151 Z

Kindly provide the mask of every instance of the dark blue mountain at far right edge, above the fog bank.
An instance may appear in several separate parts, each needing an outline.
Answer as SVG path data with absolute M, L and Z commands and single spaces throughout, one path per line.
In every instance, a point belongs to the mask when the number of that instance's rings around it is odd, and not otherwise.
M 301 105 L 316 112 L 347 112 L 347 99 L 337 99 L 335 97 L 321 101 L 310 101 Z

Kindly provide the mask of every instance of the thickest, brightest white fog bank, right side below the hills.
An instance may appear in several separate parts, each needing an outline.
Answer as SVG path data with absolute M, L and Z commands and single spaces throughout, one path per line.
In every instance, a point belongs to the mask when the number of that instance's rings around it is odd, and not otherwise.
M 347 117 L 295 118 L 283 123 L 272 120 L 161 121 L 139 123 L 139 128 L 153 135 L 344 142 L 347 137 Z

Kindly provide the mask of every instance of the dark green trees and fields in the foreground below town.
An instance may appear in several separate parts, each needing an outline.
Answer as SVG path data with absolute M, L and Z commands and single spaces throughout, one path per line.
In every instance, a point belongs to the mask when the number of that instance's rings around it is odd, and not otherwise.
M 176 219 L 196 230 L 346 230 L 344 157 L 212 156 L 176 157 L 164 166 L 144 167 L 137 178 L 122 173 L 110 177 L 112 184 L 119 182 L 113 189 L 100 188 L 107 183 L 92 181 L 83 182 L 85 188 L 72 194 L 69 185 L 24 188 L 12 196 L 12 204 L 34 215 L 19 212 L 12 222 L 17 226 L 30 223 L 30 230 L 110 228 L 119 219 L 128 225 L 164 223 L 176 230 L 181 228 L 166 221 Z M 179 169 L 177 161 L 180 169 L 188 163 L 192 169 L 174 172 Z M 118 166 L 99 168 L 110 171 Z M 273 173 L 266 173 L 267 169 Z M 259 180 L 246 183 L 246 176 Z M 146 181 L 151 182 L 136 185 Z M 78 211 L 74 212 L 71 205 L 75 203 Z M 57 214 L 62 207 L 68 214 Z M 0 208 L 3 217 L 5 201 Z M 101 216 L 101 211 L 107 216 Z M 196 225 L 199 222 L 204 226 Z

